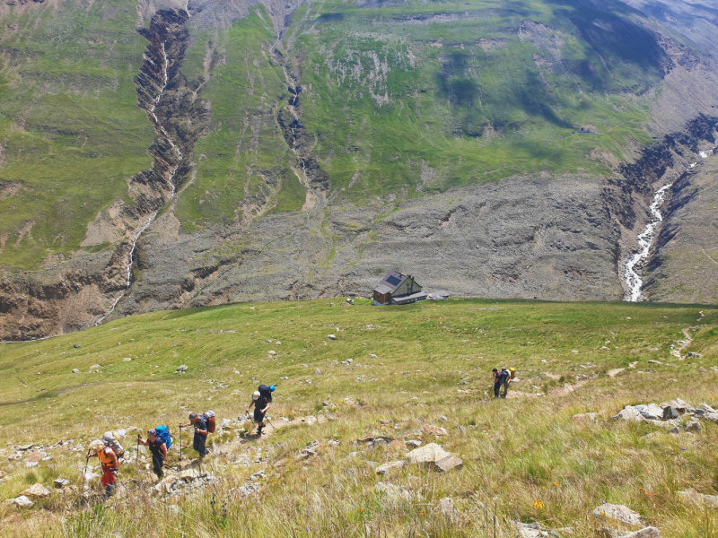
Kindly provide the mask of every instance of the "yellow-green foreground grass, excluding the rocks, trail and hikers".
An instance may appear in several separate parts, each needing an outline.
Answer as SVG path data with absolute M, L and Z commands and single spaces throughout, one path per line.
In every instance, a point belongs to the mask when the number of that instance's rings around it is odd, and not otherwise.
M 705 318 L 687 351 L 702 356 L 677 361 L 669 346 L 682 338 L 682 329 L 696 325 L 699 310 Z M 237 332 L 220 334 L 222 330 Z M 329 333 L 337 334 L 336 342 L 326 339 Z M 12 445 L 61 438 L 86 442 L 109 428 L 147 429 L 160 422 L 173 426 L 190 409 L 212 408 L 219 417 L 233 418 L 243 412 L 258 382 L 278 381 L 275 416 L 316 414 L 325 400 L 337 404 L 337 421 L 287 427 L 250 445 L 283 441 L 273 452 L 262 452 L 270 462 L 289 458 L 281 469 L 262 464 L 248 468 L 215 458 L 211 470 L 223 476 L 223 482 L 214 493 L 175 499 L 175 511 L 163 510 L 165 502 L 137 496 L 116 499 L 121 509 L 70 515 L 66 528 L 79 536 L 175 536 L 180 528 L 194 535 L 355 536 L 363 535 L 365 521 L 380 525 L 387 535 L 412 535 L 422 529 L 421 535 L 474 536 L 483 526 L 478 503 L 493 498 L 490 502 L 502 516 L 549 521 L 556 527 L 574 525 L 582 536 L 591 535 L 593 524 L 586 514 L 602 500 L 638 510 L 665 536 L 710 536 L 706 525 L 715 529 L 715 516 L 686 504 L 677 492 L 687 487 L 705 493 L 718 489 L 713 449 L 718 427 L 704 422 L 696 437 L 672 436 L 646 424 L 581 425 L 571 417 L 594 410 L 614 414 L 625 404 L 675 397 L 712 403 L 716 374 L 699 374 L 697 369 L 715 365 L 717 337 L 718 310 L 703 306 L 451 300 L 405 308 L 346 308 L 320 300 L 157 312 L 66 337 L 3 345 L 0 425 Z M 75 349 L 73 343 L 81 347 Z M 269 350 L 277 351 L 276 357 L 267 355 Z M 378 358 L 369 358 L 370 353 Z M 126 357 L 133 360 L 124 362 Z M 353 369 L 338 364 L 349 358 L 354 359 Z M 634 360 L 639 361 L 635 370 L 607 377 L 608 369 Z M 96 363 L 101 372 L 88 373 Z M 579 363 L 596 366 L 576 369 Z M 180 364 L 189 367 L 184 376 L 174 373 Z M 573 395 L 491 402 L 485 396 L 490 370 L 505 365 L 519 369 L 522 379 L 512 390 L 527 393 L 545 394 L 561 384 L 544 373 L 598 377 Z M 82 373 L 70 373 L 74 368 Z M 638 373 L 647 369 L 656 371 Z M 289 379 L 280 381 L 284 376 Z M 361 382 L 359 377 L 374 380 Z M 311 385 L 306 383 L 309 378 Z M 468 379 L 468 385 L 460 386 L 460 379 Z M 215 389 L 220 382 L 229 388 Z M 458 388 L 472 392 L 460 394 Z M 365 406 L 350 407 L 345 397 Z M 440 422 L 440 415 L 449 420 Z M 382 426 L 380 419 L 397 426 Z M 395 438 L 416 438 L 414 431 L 424 423 L 450 430 L 439 442 L 464 459 L 463 469 L 439 475 L 408 468 L 391 482 L 422 498 L 382 500 L 374 490 L 381 478 L 365 462 L 398 455 L 388 454 L 385 447 L 352 446 L 350 441 L 380 430 Z M 660 433 L 642 437 L 652 431 Z M 335 438 L 340 444 L 323 447 L 320 456 L 306 463 L 295 462 L 296 451 L 315 438 Z M 246 451 L 248 446 L 241 447 Z M 356 456 L 349 456 L 352 452 Z M 0 463 L 0 470 L 11 473 L 0 484 L 0 497 L 11 498 L 38 480 L 50 484 L 57 475 L 76 480 L 82 456 L 58 456 L 57 451 L 53 456 L 37 469 L 26 469 L 22 462 Z M 176 457 L 173 451 L 171 461 Z M 263 503 L 236 498 L 236 487 L 260 468 L 267 471 L 260 481 L 266 487 Z M 134 474 L 127 465 L 121 476 L 129 484 Z M 139 480 L 148 479 L 143 475 Z M 456 498 L 463 510 L 460 525 L 448 525 L 433 510 L 445 496 Z M 218 504 L 212 505 L 212 499 Z M 536 499 L 543 508 L 537 508 Z M 66 501 L 55 495 L 40 506 L 48 511 L 32 514 L 42 523 L 15 525 L 13 535 L 60 533 L 50 524 L 62 516 Z M 220 506 L 228 508 L 226 516 Z M 0 516 L 11 512 L 0 508 Z

